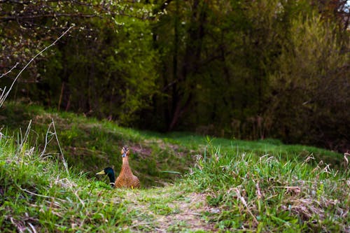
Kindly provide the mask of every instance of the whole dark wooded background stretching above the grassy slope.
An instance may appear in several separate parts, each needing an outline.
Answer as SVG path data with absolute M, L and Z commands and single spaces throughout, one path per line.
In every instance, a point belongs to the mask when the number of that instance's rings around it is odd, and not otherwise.
M 350 149 L 344 0 L 3 0 L 10 99 L 160 132 Z M 11 71 L 11 72 L 8 72 Z

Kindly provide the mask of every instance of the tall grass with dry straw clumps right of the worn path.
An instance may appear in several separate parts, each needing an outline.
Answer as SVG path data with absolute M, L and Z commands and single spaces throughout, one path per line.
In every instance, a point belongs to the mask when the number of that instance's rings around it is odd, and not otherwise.
M 349 169 L 336 171 L 308 157 L 221 153 L 211 146 L 186 183 L 208 194 L 207 213 L 220 230 L 243 232 L 349 232 Z

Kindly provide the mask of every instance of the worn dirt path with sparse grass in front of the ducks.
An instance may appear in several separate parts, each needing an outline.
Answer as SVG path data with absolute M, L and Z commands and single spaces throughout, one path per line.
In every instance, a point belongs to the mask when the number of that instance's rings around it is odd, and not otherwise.
M 177 188 L 155 188 L 127 195 L 133 232 L 214 232 L 204 213 L 206 196 Z

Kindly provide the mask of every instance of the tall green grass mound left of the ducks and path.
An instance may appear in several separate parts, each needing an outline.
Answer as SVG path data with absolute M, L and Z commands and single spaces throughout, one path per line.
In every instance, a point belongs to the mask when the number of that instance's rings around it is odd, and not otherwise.
M 1 232 L 118 232 L 130 223 L 107 185 L 67 174 L 61 158 L 26 142 L 0 140 L 0 193 Z

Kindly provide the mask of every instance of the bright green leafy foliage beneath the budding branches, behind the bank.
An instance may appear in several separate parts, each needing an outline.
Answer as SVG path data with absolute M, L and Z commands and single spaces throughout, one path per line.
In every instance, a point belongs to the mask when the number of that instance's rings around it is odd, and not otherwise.
M 50 69 L 52 75 L 48 73 L 39 90 L 45 90 L 47 85 L 55 92 L 43 92 L 38 98 L 46 97 L 50 106 L 131 125 L 139 120 L 136 113 L 147 108 L 156 92 L 156 54 L 147 49 L 151 31 L 144 28 L 147 22 L 134 19 L 125 21 L 118 33 L 101 22 L 91 27 L 97 29 L 93 43 L 71 39 L 61 50 L 57 63 L 66 66 L 59 72 L 60 78 L 52 80 L 57 69 L 50 62 L 43 64 L 43 69 Z

